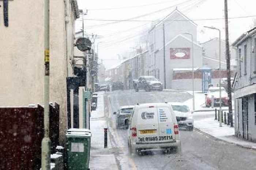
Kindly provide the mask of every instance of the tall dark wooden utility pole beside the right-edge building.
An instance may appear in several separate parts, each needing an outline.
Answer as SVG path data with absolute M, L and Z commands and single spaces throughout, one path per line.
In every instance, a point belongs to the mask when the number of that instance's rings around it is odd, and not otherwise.
M 229 116 L 230 126 L 233 127 L 233 111 L 232 111 L 232 97 L 231 97 L 231 83 L 230 83 L 230 53 L 229 53 L 229 26 L 227 19 L 227 0 L 224 0 L 225 6 L 225 34 L 226 34 L 226 62 L 227 62 L 227 97 L 229 102 Z M 221 84 L 219 84 L 221 86 Z

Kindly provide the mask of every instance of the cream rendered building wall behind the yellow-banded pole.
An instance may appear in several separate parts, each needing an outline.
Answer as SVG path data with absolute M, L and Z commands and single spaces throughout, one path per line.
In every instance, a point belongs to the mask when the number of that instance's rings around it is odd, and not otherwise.
M 0 1 L 3 6 L 3 1 Z M 0 19 L 0 106 L 44 105 L 44 1 L 9 1 Z M 3 16 L 3 10 L 0 10 Z M 60 105 L 60 141 L 67 128 L 67 76 L 72 76 L 76 0 L 50 1 L 50 102 Z

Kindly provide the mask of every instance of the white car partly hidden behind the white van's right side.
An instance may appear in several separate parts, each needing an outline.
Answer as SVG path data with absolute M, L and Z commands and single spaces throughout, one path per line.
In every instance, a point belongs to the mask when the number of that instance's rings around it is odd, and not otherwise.
M 185 128 L 188 131 L 193 131 L 194 120 L 189 107 L 179 102 L 171 102 L 169 104 L 172 105 L 179 128 Z

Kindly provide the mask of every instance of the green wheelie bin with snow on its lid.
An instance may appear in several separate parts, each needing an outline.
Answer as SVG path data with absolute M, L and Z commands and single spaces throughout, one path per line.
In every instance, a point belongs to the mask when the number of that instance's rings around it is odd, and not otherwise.
M 89 170 L 91 131 L 89 129 L 68 129 L 67 169 Z

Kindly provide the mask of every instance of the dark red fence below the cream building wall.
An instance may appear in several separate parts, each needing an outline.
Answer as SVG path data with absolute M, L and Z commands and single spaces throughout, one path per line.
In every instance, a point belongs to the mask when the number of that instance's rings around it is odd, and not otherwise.
M 0 107 L 0 169 L 36 170 L 41 167 L 44 108 Z M 59 144 L 59 105 L 50 105 L 51 152 Z

